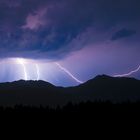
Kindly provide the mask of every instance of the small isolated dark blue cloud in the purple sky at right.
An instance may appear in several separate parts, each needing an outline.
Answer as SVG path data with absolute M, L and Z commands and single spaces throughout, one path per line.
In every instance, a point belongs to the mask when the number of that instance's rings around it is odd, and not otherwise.
M 118 32 L 116 32 L 112 36 L 111 40 L 114 41 L 114 40 L 118 40 L 118 39 L 121 39 L 121 38 L 126 38 L 126 37 L 132 36 L 134 34 L 136 34 L 136 31 L 124 28 L 124 29 L 121 29 Z

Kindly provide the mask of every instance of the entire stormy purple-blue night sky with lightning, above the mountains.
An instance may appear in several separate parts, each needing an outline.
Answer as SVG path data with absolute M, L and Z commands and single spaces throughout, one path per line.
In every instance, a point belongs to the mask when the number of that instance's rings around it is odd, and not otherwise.
M 139 0 L 0 0 L 0 82 L 140 79 Z

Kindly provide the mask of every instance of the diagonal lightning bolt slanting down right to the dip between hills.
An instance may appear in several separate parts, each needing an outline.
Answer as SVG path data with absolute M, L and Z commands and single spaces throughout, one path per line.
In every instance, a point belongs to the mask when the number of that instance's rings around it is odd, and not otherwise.
M 62 71 L 67 73 L 72 79 L 74 79 L 77 83 L 82 84 L 83 82 L 78 80 L 72 73 L 70 73 L 66 68 L 62 67 L 59 63 L 55 63 Z

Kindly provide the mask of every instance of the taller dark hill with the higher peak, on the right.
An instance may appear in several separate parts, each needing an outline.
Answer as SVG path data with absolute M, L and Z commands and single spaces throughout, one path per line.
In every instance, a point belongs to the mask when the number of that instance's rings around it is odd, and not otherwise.
M 75 88 L 86 100 L 136 101 L 140 99 L 140 81 L 100 75 Z M 72 90 L 75 90 L 74 88 Z

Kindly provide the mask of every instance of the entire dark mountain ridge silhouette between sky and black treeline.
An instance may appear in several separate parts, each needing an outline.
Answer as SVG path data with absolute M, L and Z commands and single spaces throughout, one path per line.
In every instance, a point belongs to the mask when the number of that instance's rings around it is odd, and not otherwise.
M 64 105 L 68 102 L 140 100 L 140 81 L 134 78 L 97 76 L 76 87 L 56 87 L 44 81 L 15 81 L 0 84 L 0 105 Z

